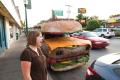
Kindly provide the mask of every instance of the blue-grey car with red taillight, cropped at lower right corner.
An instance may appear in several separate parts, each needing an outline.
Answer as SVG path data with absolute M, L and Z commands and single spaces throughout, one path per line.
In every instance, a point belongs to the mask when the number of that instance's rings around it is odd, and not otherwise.
M 95 60 L 87 69 L 86 80 L 120 80 L 120 53 Z

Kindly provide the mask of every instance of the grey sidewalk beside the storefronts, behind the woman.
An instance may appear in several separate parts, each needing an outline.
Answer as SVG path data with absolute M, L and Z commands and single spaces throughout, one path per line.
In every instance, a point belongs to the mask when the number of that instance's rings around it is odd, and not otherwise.
M 26 38 L 22 34 L 4 55 L 0 55 L 0 80 L 23 80 L 19 57 L 25 47 Z M 49 74 L 48 80 L 52 80 Z

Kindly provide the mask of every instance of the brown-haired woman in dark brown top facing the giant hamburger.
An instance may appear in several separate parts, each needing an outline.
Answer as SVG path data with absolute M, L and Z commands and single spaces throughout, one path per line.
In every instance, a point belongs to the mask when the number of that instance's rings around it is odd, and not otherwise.
M 46 58 L 42 53 L 42 34 L 31 31 L 28 34 L 28 47 L 20 56 L 24 80 L 47 80 Z

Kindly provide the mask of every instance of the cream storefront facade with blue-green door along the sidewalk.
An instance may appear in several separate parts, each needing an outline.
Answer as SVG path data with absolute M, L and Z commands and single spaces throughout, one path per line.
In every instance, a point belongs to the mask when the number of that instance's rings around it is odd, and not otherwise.
M 21 18 L 13 0 L 0 1 L 0 54 L 8 49 L 21 34 Z

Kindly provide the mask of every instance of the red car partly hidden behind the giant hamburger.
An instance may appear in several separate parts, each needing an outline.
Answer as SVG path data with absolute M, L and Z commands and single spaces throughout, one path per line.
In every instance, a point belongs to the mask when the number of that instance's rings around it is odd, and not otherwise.
M 95 32 L 83 31 L 76 34 L 71 34 L 72 37 L 79 39 L 90 40 L 92 48 L 105 48 L 109 45 L 109 40 L 99 37 Z

